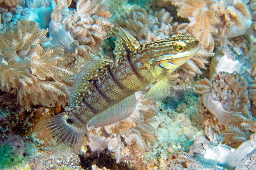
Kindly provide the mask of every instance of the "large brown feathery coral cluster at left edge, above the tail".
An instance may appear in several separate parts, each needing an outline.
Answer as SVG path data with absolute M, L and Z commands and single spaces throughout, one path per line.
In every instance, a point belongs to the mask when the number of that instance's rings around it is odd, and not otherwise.
M 66 104 L 74 55 L 46 45 L 48 30 L 33 21 L 19 21 L 0 33 L 1 89 L 17 93 L 28 111 L 31 105 Z

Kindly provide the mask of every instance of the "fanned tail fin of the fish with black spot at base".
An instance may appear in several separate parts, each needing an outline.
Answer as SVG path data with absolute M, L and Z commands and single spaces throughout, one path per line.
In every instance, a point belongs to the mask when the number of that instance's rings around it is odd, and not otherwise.
M 61 113 L 46 119 L 34 129 L 35 137 L 48 147 L 67 150 L 78 154 L 84 142 L 86 125 L 72 113 Z

